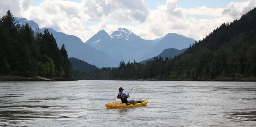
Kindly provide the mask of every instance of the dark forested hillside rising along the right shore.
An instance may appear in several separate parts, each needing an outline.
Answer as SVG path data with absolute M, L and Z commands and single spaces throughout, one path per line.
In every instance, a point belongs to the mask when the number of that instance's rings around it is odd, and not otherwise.
M 256 81 L 256 9 L 223 23 L 175 58 L 87 72 L 83 79 Z

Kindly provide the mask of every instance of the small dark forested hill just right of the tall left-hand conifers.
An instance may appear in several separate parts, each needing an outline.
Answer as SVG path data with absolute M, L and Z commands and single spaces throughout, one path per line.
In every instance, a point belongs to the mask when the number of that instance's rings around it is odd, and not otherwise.
M 99 69 L 98 67 L 77 58 L 69 58 L 69 60 L 74 70 L 93 71 Z

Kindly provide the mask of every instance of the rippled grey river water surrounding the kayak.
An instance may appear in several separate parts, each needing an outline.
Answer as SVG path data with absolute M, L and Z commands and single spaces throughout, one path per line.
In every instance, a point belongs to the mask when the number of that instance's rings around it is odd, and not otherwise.
M 146 107 L 106 109 L 135 86 L 131 99 Z M 0 126 L 255 125 L 255 82 L 0 82 Z

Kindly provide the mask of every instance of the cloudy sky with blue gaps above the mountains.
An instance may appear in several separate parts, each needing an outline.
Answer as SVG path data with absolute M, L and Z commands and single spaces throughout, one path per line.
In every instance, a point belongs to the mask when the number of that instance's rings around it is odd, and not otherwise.
M 222 23 L 239 19 L 256 0 L 0 0 L 0 15 L 34 20 L 40 28 L 83 42 L 100 29 L 127 28 L 143 39 L 177 33 L 201 40 Z

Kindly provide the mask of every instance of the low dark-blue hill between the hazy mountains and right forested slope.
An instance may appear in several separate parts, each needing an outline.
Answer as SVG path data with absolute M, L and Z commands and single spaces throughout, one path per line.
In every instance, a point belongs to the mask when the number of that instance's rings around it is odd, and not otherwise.
M 170 49 L 164 49 L 163 52 L 161 52 L 159 55 L 157 55 L 157 57 L 162 57 L 164 60 L 166 58 L 174 58 L 176 55 L 180 55 L 182 52 L 185 52 L 186 49 L 174 49 L 174 48 L 170 48 Z M 147 61 L 151 61 L 154 60 L 153 58 L 149 58 L 147 60 L 141 61 L 140 63 L 146 63 Z

